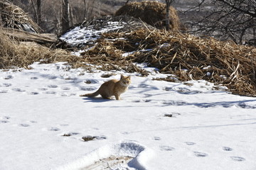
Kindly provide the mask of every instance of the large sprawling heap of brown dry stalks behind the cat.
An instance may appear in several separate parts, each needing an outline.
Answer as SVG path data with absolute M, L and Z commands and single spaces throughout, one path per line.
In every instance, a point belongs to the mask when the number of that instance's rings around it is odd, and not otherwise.
M 146 62 L 162 73 L 176 74 L 181 81 L 206 79 L 228 86 L 233 94 L 256 96 L 256 49 L 213 38 L 148 29 L 105 33 L 80 61 L 142 74 L 146 72 L 133 63 Z

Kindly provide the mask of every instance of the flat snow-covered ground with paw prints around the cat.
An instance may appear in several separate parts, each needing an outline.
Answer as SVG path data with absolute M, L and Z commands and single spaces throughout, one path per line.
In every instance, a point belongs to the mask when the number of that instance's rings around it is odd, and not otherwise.
M 256 169 L 256 98 L 161 74 L 130 74 L 120 101 L 82 98 L 123 72 L 31 67 L 0 72 L 1 170 Z

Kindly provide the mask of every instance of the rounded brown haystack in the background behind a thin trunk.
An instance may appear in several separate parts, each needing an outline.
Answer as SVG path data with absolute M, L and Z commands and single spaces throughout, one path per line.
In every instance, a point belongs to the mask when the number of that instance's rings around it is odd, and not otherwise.
M 165 28 L 166 26 L 166 4 L 158 1 L 130 2 L 119 8 L 115 15 L 128 15 L 134 18 L 140 18 L 145 23 L 159 29 Z M 170 6 L 169 16 L 170 29 L 179 30 L 180 22 L 178 20 L 178 14 L 172 6 Z

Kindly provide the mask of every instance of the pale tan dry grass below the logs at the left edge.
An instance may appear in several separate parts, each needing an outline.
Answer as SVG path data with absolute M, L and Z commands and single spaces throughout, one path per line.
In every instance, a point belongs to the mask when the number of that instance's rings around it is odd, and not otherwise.
M 73 62 L 75 57 L 65 50 L 51 50 L 35 42 L 18 42 L 5 35 L 0 29 L 0 69 L 11 67 L 28 67 L 33 62 L 68 61 Z

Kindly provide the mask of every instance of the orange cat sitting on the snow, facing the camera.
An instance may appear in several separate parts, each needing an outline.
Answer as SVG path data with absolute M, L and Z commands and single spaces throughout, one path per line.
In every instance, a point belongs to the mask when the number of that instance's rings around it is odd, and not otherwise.
M 102 98 L 110 99 L 110 97 L 114 96 L 116 100 L 119 100 L 120 95 L 127 91 L 129 84 L 131 84 L 131 77 L 124 77 L 121 75 L 120 80 L 112 79 L 102 84 L 100 89 L 94 93 L 80 96 L 95 97 L 100 94 Z

